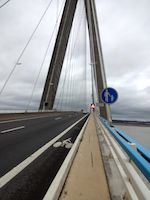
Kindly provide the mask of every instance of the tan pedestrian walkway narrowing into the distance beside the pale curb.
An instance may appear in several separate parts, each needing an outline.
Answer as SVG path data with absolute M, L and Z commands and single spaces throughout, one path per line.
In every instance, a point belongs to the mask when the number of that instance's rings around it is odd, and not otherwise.
M 109 200 L 109 190 L 93 115 L 59 200 Z

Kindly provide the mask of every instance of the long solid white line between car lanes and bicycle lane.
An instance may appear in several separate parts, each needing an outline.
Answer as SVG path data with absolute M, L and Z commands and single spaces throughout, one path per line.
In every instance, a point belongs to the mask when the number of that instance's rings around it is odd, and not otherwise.
M 64 136 L 69 130 L 71 130 L 75 125 L 77 125 L 82 119 L 84 119 L 87 115 L 79 119 L 77 122 L 69 126 L 66 130 L 64 130 L 62 133 L 57 135 L 55 138 L 53 138 L 51 141 L 49 141 L 47 144 L 45 144 L 43 147 L 38 149 L 35 153 L 33 153 L 31 156 L 26 158 L 24 161 L 22 161 L 19 165 L 14 167 L 12 170 L 7 172 L 4 176 L 0 178 L 0 188 L 2 188 L 6 183 L 8 183 L 11 179 L 13 179 L 17 174 L 19 174 L 25 167 L 27 167 L 31 162 L 33 162 L 36 158 L 38 158 L 43 152 L 45 152 L 50 146 L 52 146 L 57 140 L 59 140 L 62 136 Z

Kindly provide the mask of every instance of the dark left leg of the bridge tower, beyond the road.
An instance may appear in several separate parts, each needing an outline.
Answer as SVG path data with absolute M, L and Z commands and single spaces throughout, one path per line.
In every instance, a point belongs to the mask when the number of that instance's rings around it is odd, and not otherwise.
M 53 109 L 78 0 L 66 0 L 39 110 Z

